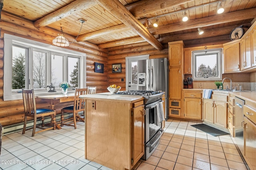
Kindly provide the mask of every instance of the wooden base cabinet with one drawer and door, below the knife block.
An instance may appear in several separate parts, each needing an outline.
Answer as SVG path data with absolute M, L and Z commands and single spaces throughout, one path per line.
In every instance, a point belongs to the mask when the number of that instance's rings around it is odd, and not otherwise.
M 183 117 L 202 120 L 202 91 L 183 91 Z

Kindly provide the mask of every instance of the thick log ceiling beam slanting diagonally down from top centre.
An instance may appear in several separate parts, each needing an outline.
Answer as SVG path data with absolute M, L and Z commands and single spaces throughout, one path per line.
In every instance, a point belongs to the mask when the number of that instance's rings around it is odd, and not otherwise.
M 113 14 L 118 20 L 135 31 L 140 37 L 158 50 L 163 45 L 138 21 L 118 0 L 96 0 L 103 8 Z

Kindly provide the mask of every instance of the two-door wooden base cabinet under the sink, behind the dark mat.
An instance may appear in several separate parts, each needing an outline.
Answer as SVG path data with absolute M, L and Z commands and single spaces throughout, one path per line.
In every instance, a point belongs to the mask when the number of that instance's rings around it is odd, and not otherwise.
M 228 128 L 228 93 L 212 93 L 211 99 L 204 99 L 204 121 Z

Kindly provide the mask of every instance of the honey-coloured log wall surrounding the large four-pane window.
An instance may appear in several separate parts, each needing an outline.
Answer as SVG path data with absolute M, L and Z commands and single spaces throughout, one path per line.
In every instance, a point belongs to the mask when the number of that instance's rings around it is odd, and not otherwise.
M 10 22 L 12 21 L 12 22 Z M 21 26 L 22 25 L 22 26 Z M 2 12 L 0 20 L 0 123 L 8 126 L 24 121 L 24 106 L 22 100 L 4 101 L 4 33 L 16 35 L 43 43 L 52 43 L 52 39 L 56 37 L 58 31 L 43 27 L 36 29 L 32 22 L 20 20 L 17 17 L 10 16 Z M 67 37 L 70 41 L 74 41 L 74 37 Z M 68 49 L 86 53 L 86 86 L 96 86 L 97 93 L 106 92 L 108 86 L 108 58 L 107 50 L 99 49 L 96 45 L 84 43 L 72 43 Z M 104 73 L 94 72 L 94 63 L 104 64 Z M 70 103 L 59 103 L 55 105 L 56 112 L 60 113 L 63 107 L 71 105 Z M 46 100 L 36 99 L 38 108 L 50 108 L 50 103 Z

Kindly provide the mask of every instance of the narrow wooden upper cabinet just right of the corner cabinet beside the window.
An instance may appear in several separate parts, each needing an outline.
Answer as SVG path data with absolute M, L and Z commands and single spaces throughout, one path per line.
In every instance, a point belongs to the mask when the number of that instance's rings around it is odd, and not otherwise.
M 251 36 L 247 34 L 240 42 L 241 70 L 250 68 L 251 65 Z

